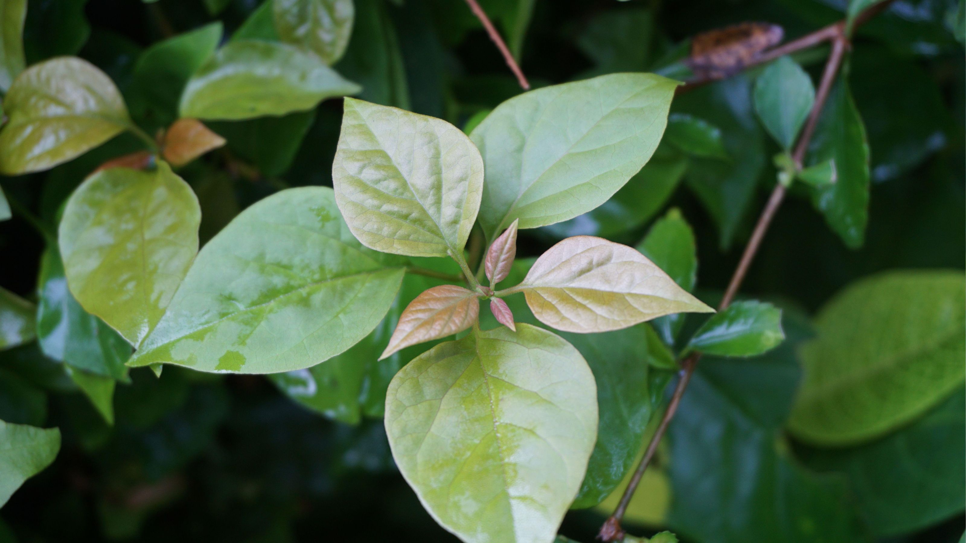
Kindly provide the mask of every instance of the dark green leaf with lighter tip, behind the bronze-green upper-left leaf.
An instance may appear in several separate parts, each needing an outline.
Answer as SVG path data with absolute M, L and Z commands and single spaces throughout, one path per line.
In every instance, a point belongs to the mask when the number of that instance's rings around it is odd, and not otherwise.
M 145 49 L 127 93 L 131 116 L 153 129 L 173 123 L 185 84 L 212 56 L 221 32 L 221 23 L 213 22 Z

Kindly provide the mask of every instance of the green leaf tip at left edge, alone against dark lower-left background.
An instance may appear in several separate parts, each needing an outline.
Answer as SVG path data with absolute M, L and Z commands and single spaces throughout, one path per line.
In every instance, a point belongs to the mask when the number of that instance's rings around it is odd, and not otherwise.
M 42 472 L 57 457 L 60 430 L 0 420 L 0 507 L 23 481 Z

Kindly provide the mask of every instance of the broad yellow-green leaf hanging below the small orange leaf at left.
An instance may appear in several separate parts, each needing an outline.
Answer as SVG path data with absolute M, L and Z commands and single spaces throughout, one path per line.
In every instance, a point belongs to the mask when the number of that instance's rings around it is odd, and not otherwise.
M 58 229 L 74 298 L 135 347 L 164 314 L 198 252 L 190 186 L 154 170 L 101 170 L 71 194 Z

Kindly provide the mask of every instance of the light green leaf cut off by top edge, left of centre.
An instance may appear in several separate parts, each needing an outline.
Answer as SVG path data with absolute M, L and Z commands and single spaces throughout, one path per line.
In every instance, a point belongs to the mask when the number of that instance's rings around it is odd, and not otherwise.
M 312 51 L 327 65 L 342 58 L 353 32 L 353 0 L 270 0 L 282 42 Z

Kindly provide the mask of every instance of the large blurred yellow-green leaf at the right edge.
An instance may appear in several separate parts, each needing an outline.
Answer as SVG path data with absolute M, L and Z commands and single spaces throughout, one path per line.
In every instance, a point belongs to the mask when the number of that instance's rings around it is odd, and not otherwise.
M 788 428 L 845 445 L 882 435 L 963 383 L 961 272 L 888 272 L 847 287 L 802 349 L 805 381 Z

